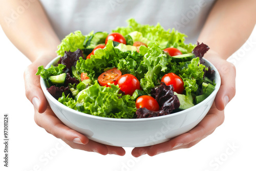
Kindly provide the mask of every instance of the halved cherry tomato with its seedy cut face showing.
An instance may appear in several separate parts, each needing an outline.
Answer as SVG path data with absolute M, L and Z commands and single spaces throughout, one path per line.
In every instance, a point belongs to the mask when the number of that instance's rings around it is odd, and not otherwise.
M 117 68 L 112 68 L 106 72 L 103 72 L 99 77 L 98 81 L 100 86 L 110 87 L 108 83 L 117 84 L 116 80 L 122 75 L 121 71 Z

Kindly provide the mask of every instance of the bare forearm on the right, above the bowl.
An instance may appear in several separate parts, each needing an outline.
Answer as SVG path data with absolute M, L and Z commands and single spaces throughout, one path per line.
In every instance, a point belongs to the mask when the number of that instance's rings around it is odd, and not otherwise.
M 255 0 L 218 0 L 206 20 L 199 42 L 227 59 L 250 36 L 256 23 L 255 16 Z

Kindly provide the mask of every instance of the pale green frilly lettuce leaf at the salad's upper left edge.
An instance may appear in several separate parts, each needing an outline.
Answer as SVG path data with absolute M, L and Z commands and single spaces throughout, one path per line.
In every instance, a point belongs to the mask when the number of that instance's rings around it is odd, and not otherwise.
M 82 35 L 81 31 L 75 31 L 70 33 L 61 40 L 56 53 L 60 56 L 64 56 L 65 51 L 75 52 L 77 49 L 84 49 L 83 42 L 86 36 Z

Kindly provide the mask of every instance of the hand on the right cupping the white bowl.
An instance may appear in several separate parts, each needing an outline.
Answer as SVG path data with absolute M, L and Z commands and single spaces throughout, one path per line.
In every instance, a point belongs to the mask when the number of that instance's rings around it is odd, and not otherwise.
M 144 154 L 155 156 L 180 148 L 189 148 L 213 133 L 224 122 L 224 108 L 236 93 L 236 68 L 215 52 L 207 53 L 207 59 L 218 69 L 221 76 L 220 90 L 207 115 L 196 127 L 185 134 L 160 144 L 134 148 L 132 151 L 134 157 Z

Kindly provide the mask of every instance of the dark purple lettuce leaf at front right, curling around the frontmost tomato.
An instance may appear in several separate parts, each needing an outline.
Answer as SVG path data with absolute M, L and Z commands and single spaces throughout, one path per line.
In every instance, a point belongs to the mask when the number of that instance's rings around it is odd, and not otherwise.
M 154 97 L 159 104 L 159 111 L 150 111 L 146 108 L 139 108 L 136 111 L 137 118 L 150 118 L 171 114 L 180 106 L 177 95 L 174 95 L 173 85 L 166 86 L 162 83 L 151 90 L 151 96 Z

